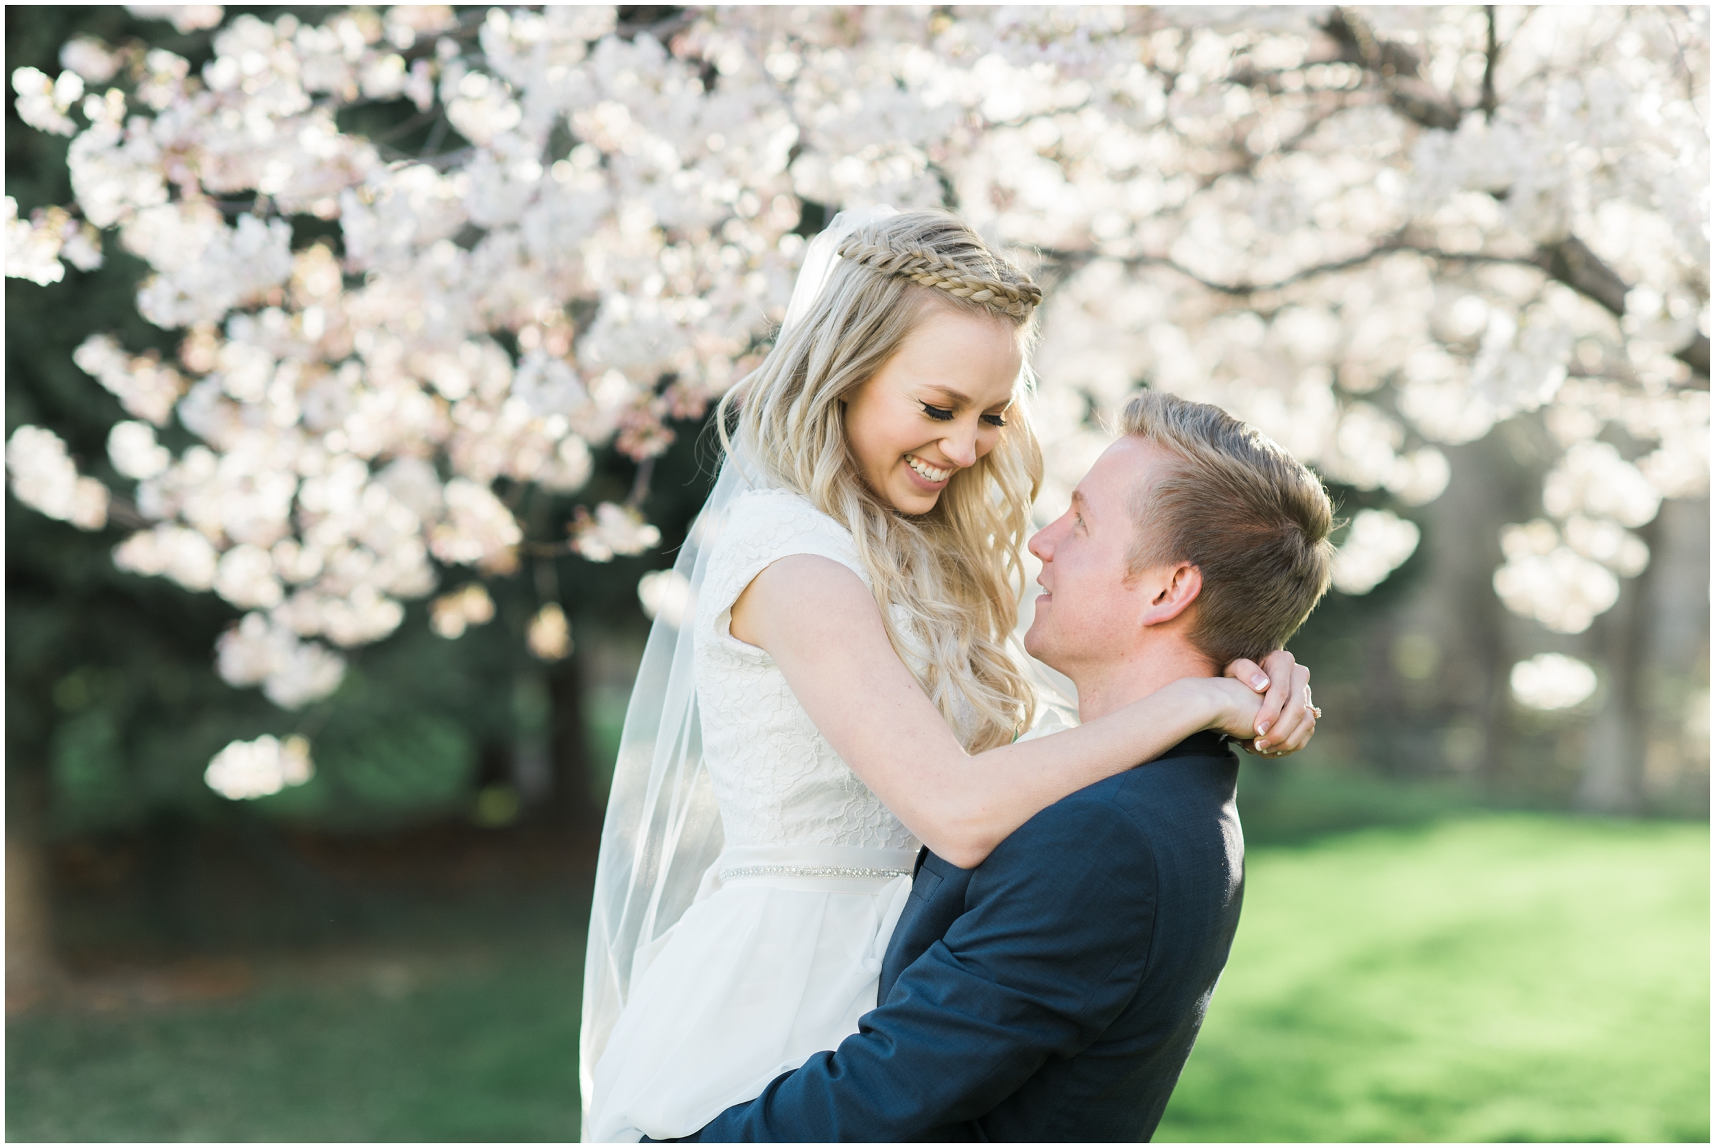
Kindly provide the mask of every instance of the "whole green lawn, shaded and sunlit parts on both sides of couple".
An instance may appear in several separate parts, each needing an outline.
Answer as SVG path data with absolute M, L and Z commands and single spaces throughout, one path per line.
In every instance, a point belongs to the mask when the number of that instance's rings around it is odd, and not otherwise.
M 9 1139 L 575 1139 L 581 937 L 7 1025 Z M 1708 1139 L 1708 829 L 1254 848 L 1158 1139 Z

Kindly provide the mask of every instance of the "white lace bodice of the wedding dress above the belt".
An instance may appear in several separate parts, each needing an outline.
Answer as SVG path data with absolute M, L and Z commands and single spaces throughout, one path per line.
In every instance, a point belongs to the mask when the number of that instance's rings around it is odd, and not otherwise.
M 813 553 L 870 584 L 851 533 L 785 490 L 749 490 L 727 511 L 696 610 L 703 762 L 727 846 L 847 845 L 911 850 L 916 838 L 854 774 L 767 651 L 732 637 L 732 603 L 768 564 Z

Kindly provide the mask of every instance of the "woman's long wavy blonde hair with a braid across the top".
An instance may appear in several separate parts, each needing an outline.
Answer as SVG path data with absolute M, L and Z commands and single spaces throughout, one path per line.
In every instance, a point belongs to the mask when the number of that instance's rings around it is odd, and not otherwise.
M 852 233 L 809 314 L 719 408 L 727 452 L 761 468 L 845 524 L 870 572 L 882 624 L 966 749 L 1010 742 L 1036 711 L 1008 641 L 1019 619 L 1019 557 L 1043 452 L 1020 372 L 1007 427 L 976 466 L 954 473 L 935 509 L 907 516 L 861 478 L 845 437 L 845 398 L 870 380 L 936 307 L 996 317 L 1026 351 L 1041 290 L 957 218 L 888 216 Z M 899 608 L 911 620 L 902 627 Z

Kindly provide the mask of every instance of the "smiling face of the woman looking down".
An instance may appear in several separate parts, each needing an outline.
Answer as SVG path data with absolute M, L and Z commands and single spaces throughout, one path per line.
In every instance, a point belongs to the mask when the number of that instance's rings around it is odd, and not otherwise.
M 930 303 L 899 351 L 845 399 L 845 439 L 864 485 L 904 514 L 933 511 L 952 476 L 995 449 L 1022 367 L 1005 319 Z

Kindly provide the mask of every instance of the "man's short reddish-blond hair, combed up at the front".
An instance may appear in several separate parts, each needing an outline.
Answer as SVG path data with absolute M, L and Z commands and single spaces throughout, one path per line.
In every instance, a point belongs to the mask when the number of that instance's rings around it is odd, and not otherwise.
M 1190 641 L 1225 667 L 1279 649 L 1327 591 L 1334 505 L 1286 451 L 1218 406 L 1146 391 L 1120 427 L 1173 463 L 1132 493 L 1132 574 L 1202 571 Z

